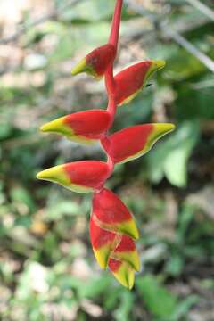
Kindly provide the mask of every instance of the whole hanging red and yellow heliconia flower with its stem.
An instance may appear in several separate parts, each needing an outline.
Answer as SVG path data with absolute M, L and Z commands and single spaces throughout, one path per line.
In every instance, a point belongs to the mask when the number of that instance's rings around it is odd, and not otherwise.
M 117 106 L 131 101 L 145 86 L 154 71 L 165 62 L 138 62 L 113 76 L 122 0 L 117 0 L 109 42 L 86 55 L 71 71 L 105 79 L 108 95 L 106 111 L 79 111 L 45 124 L 41 130 L 55 132 L 78 143 L 100 141 L 107 161 L 74 161 L 45 169 L 37 178 L 51 181 L 78 193 L 93 193 L 90 236 L 95 258 L 101 268 L 109 268 L 120 284 L 132 288 L 135 271 L 140 269 L 135 241 L 139 237 L 134 218 L 119 197 L 104 188 L 115 164 L 135 160 L 148 152 L 161 136 L 174 129 L 173 124 L 144 124 L 109 135 Z

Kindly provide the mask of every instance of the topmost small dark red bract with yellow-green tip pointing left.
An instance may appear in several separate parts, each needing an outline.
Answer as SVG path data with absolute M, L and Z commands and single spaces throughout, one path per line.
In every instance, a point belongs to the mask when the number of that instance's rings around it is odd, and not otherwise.
M 77 75 L 81 72 L 99 79 L 102 78 L 105 71 L 115 58 L 115 47 L 111 44 L 102 45 L 91 53 L 88 53 L 71 71 L 72 75 Z

